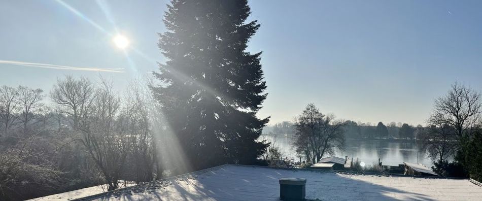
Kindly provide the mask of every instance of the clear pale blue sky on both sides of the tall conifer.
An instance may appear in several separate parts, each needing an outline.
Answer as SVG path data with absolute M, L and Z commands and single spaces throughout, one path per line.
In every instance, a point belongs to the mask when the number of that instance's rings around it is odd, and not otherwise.
M 168 1 L 2 1 L 0 85 L 48 92 L 65 75 L 119 91 L 165 62 Z M 481 1 L 249 1 L 261 28 L 267 99 L 259 117 L 293 120 L 308 103 L 372 124 L 425 124 L 451 84 L 482 89 Z M 126 49 L 113 38 L 122 35 Z

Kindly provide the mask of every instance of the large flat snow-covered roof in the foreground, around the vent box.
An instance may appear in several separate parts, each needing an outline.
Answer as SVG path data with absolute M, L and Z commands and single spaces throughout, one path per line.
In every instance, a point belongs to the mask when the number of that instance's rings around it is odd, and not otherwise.
M 279 179 L 305 178 L 306 199 L 481 200 L 468 179 L 360 175 L 339 171 L 221 165 L 79 200 L 279 200 Z

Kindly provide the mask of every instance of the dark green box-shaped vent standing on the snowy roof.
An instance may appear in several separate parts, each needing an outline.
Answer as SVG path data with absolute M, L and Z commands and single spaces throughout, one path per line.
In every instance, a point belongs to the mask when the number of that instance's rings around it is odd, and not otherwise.
M 282 200 L 304 200 L 306 179 L 303 178 L 281 178 L 280 198 Z

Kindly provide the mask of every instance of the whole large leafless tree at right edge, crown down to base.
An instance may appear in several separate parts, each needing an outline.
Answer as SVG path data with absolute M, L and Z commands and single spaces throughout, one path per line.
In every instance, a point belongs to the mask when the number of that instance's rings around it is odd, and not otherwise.
M 432 167 L 435 172 L 447 174 L 448 162 L 445 159 L 457 151 L 461 151 L 462 155 L 467 154 L 468 150 L 464 150 L 466 146 L 463 144 L 477 130 L 481 106 L 480 93 L 457 82 L 446 95 L 435 99 L 434 111 L 427 120 L 430 129 L 423 137 L 428 154 L 433 159 L 439 159 Z M 467 159 L 463 158 L 457 161 L 467 165 L 464 162 Z

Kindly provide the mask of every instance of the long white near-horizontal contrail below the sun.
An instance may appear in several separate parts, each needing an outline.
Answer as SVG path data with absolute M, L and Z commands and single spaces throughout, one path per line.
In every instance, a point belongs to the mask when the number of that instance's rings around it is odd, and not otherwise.
M 68 66 L 68 65 L 55 65 L 55 64 L 48 64 L 48 63 L 31 63 L 31 62 L 9 61 L 9 60 L 0 60 L 0 64 L 21 65 L 21 66 L 28 66 L 28 67 L 35 67 L 35 68 L 44 68 L 44 69 L 125 73 L 123 71 L 124 69 L 122 69 L 122 68 L 119 68 L 119 69 L 102 69 L 102 68 L 95 68 L 95 67 L 76 67 L 76 66 Z

